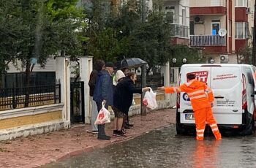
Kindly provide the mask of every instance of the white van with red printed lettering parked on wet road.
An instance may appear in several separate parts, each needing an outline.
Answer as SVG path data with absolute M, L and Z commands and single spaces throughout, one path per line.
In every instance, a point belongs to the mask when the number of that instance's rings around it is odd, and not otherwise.
M 187 82 L 187 74 L 194 73 L 214 92 L 214 117 L 219 129 L 237 129 L 252 134 L 255 127 L 256 68 L 246 64 L 184 64 L 179 83 Z M 176 131 L 187 134 L 195 128 L 195 118 L 187 93 L 177 96 Z

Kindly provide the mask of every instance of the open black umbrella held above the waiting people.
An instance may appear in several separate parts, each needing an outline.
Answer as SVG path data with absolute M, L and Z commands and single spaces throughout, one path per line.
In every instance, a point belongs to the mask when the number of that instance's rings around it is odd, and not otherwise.
M 142 66 L 143 64 L 147 64 L 146 61 L 143 61 L 140 58 L 124 58 L 122 61 L 116 62 L 116 68 L 122 69 L 126 67 L 136 67 L 136 66 Z

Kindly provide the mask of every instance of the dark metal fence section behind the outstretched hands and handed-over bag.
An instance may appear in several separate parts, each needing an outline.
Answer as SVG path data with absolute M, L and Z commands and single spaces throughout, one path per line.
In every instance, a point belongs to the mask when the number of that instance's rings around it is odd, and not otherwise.
M 163 86 L 164 84 L 164 76 L 161 74 L 147 76 L 146 86 L 151 87 L 153 90 L 156 90 L 157 87 Z M 141 88 L 141 76 L 137 77 L 135 87 Z

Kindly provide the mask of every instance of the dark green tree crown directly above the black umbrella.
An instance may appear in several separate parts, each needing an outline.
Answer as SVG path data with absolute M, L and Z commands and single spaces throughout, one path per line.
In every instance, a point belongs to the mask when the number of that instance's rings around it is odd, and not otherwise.
M 162 12 L 155 10 L 148 15 L 146 23 L 132 34 L 129 56 L 138 56 L 148 62 L 148 72 L 155 65 L 165 64 L 169 60 L 170 26 L 165 22 Z

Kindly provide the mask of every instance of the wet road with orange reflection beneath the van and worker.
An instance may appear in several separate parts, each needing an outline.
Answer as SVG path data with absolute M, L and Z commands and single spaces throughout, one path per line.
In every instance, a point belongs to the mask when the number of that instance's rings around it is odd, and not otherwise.
M 168 126 L 44 167 L 256 167 L 256 135 L 197 142 Z

